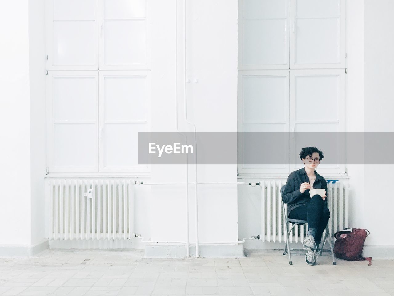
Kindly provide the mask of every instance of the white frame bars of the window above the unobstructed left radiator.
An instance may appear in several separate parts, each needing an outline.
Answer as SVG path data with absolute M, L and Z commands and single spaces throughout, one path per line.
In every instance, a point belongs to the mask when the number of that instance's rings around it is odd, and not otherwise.
M 133 175 L 149 176 L 151 165 L 137 165 L 130 168 L 104 168 L 104 136 L 101 136 L 101 129 L 104 127 L 103 119 L 103 76 L 146 76 L 147 79 L 147 119 L 146 131 L 151 130 L 151 11 L 152 3 L 145 1 L 145 25 L 146 25 L 146 57 L 144 64 L 132 65 L 104 65 L 103 34 L 100 35 L 101 25 L 104 22 L 103 12 L 104 0 L 99 0 L 94 5 L 95 18 L 95 64 L 94 65 L 54 65 L 54 0 L 45 0 L 45 49 L 46 49 L 46 167 L 47 175 Z M 135 18 L 141 19 L 141 18 Z M 71 20 L 72 21 L 72 20 Z M 95 166 L 88 167 L 54 167 L 54 114 L 53 114 L 53 79 L 56 76 L 78 77 L 94 76 L 96 81 L 96 162 Z

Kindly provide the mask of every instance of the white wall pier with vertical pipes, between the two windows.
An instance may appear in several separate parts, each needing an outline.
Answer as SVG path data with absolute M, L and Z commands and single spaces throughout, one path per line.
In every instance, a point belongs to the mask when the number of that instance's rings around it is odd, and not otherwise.
M 178 1 L 178 117 L 179 129 L 193 131 L 183 113 L 183 6 Z M 165 47 L 156 52 L 152 69 L 152 130 L 176 131 L 176 27 L 175 3 L 159 4 L 161 23 L 153 37 L 162 36 Z M 237 19 L 236 0 L 187 1 L 187 85 L 188 120 L 197 131 L 236 131 L 237 128 Z M 172 20 L 172 21 L 169 21 Z M 218 37 L 220 36 L 220 37 Z M 163 60 L 163 56 L 166 58 Z M 155 54 L 152 53 L 152 59 Z M 161 59 L 161 60 L 160 60 Z M 152 63 L 154 65 L 154 62 Z M 162 74 L 160 76 L 160 74 Z M 198 79 L 198 83 L 194 80 Z M 160 101 L 160 102 L 159 102 Z M 165 102 L 165 103 L 164 103 Z M 160 112 L 159 112 L 160 110 Z M 154 113 L 154 116 L 153 116 Z M 199 182 L 236 182 L 236 165 L 198 166 Z M 194 167 L 189 168 L 189 181 L 194 180 Z M 184 166 L 153 166 L 152 182 L 184 182 Z M 184 186 L 152 186 L 151 238 L 154 240 L 186 240 Z M 237 187 L 199 185 L 199 241 L 237 240 Z M 195 242 L 194 189 L 189 186 L 190 242 Z

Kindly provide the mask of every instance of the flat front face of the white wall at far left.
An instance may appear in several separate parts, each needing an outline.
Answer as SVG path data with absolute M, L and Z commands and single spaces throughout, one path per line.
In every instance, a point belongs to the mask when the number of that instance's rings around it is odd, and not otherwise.
M 0 10 L 0 245 L 31 242 L 28 13 L 28 0 Z

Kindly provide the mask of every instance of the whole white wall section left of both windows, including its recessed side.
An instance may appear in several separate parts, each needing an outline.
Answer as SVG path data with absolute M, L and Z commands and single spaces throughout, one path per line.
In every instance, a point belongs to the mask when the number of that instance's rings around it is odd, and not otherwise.
M 5 2 L 0 11 L 0 253 L 12 246 L 11 255 L 44 238 L 44 13 L 43 0 Z

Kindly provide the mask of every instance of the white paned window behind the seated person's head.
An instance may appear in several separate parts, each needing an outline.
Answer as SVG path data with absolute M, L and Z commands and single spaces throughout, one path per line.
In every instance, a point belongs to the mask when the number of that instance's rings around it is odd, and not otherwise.
M 344 0 L 239 1 L 238 130 L 297 132 L 297 139 L 278 147 L 281 155 L 273 151 L 290 165 L 240 165 L 240 175 L 290 173 L 302 167 L 298 153 L 308 143 L 298 132 L 332 132 L 332 140 L 339 137 L 334 132 L 344 131 L 344 5 Z M 307 112 L 312 102 L 315 110 Z M 318 148 L 324 152 L 327 145 Z M 340 147 L 337 151 L 325 156 L 319 173 L 344 173 L 344 165 L 333 162 L 340 158 Z

